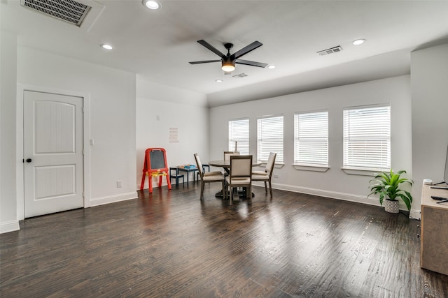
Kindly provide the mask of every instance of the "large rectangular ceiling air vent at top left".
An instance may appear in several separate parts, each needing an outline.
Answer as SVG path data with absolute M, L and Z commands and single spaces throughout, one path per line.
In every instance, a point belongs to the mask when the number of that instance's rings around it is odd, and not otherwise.
M 73 0 L 20 0 L 20 5 L 78 27 L 91 8 Z

